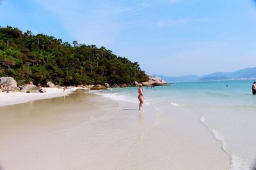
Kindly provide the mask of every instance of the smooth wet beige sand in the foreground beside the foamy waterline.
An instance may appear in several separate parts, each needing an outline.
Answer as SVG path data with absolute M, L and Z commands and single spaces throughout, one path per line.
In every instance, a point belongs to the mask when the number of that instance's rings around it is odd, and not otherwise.
M 184 108 L 76 93 L 0 107 L 0 169 L 228 169 L 221 145 Z

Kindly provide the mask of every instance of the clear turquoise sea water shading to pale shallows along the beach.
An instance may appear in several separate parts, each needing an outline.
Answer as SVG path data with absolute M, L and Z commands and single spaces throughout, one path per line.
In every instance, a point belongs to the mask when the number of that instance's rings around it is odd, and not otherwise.
M 198 123 L 220 141 L 230 155 L 230 169 L 253 169 L 256 165 L 256 96 L 253 80 L 197 81 L 170 86 L 144 87 L 145 106 L 163 114 L 184 107 L 198 115 Z M 97 94 L 116 101 L 138 103 L 138 88 L 111 89 Z M 218 162 L 216 162 L 218 163 Z

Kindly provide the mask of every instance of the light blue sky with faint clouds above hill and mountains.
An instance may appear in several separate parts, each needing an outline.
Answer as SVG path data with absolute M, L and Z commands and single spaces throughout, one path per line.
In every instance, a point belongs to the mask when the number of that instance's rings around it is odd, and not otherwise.
M 253 0 L 0 0 L 0 26 L 105 46 L 147 74 L 256 66 Z

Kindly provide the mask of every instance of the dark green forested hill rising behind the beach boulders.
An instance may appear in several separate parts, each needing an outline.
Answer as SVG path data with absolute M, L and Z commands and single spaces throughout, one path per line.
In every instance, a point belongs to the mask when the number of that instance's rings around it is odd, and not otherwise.
M 80 85 L 147 81 L 138 62 L 116 56 L 104 47 L 70 45 L 44 34 L 22 33 L 15 27 L 0 27 L 0 77 L 12 76 L 18 83 Z

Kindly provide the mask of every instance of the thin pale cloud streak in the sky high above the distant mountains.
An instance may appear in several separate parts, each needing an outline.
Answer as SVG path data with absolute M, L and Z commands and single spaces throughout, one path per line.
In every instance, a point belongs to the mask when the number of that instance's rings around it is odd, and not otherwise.
M 168 19 L 168 20 L 160 20 L 157 22 L 157 27 L 172 27 L 174 25 L 182 25 L 188 23 L 204 23 L 208 22 L 208 18 L 181 18 L 181 19 Z

